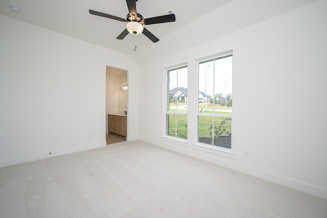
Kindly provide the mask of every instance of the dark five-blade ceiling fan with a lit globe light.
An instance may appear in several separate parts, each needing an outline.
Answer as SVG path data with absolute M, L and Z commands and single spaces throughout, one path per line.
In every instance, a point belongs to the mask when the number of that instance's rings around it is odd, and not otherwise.
M 138 35 L 143 33 L 146 37 L 148 37 L 151 41 L 157 42 L 159 39 L 155 37 L 150 31 L 145 29 L 143 25 L 151 25 L 156 23 L 164 23 L 164 22 L 174 22 L 175 14 L 162 15 L 157 17 L 143 18 L 143 16 L 136 12 L 136 2 L 137 0 L 126 0 L 127 7 L 129 13 L 126 16 L 126 19 L 116 17 L 110 14 L 105 14 L 99 11 L 88 10 L 90 14 L 107 17 L 110 19 L 127 22 L 126 29 L 116 38 L 116 39 L 124 39 L 128 33 L 133 35 Z

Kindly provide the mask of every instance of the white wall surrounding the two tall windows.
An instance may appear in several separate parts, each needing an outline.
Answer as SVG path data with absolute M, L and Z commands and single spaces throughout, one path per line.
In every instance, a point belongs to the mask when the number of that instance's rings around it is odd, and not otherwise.
M 139 105 L 139 138 L 327 198 L 326 9 L 327 2 L 318 1 L 140 66 L 139 93 L 151 101 Z M 188 143 L 164 140 L 164 68 L 188 62 L 193 93 L 188 109 L 194 114 L 195 60 L 228 50 L 233 50 L 233 158 L 194 149 L 195 115 L 188 118 Z

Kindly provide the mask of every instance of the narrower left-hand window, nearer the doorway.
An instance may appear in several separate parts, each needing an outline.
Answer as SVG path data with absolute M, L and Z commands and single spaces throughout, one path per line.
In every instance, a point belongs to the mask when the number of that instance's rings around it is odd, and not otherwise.
M 188 138 L 188 67 L 167 72 L 166 135 Z

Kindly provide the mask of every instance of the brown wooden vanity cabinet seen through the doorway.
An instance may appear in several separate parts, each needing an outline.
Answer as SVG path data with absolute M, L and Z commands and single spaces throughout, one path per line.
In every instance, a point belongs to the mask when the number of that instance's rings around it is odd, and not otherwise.
M 127 136 L 127 117 L 109 114 L 108 131 L 118 135 Z

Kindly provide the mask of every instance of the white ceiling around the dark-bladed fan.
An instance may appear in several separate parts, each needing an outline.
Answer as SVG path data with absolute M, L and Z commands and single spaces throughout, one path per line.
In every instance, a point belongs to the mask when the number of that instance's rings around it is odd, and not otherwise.
M 129 34 L 118 40 L 116 37 L 126 28 L 126 23 L 88 13 L 92 9 L 126 18 L 125 0 L 0 0 L 0 14 L 127 54 L 144 63 L 315 1 L 138 0 L 136 9 L 144 18 L 162 15 L 169 9 L 176 14 L 175 22 L 145 26 L 160 39 L 156 43 L 143 34 Z M 21 12 L 15 13 L 9 6 Z

